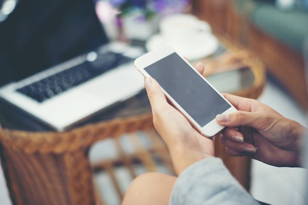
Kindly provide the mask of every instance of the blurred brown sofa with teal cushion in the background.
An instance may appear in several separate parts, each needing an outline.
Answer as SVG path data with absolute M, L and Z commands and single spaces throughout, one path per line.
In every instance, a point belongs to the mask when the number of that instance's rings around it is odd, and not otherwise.
M 268 74 L 308 110 L 303 44 L 308 39 L 308 1 L 193 0 L 192 12 L 220 38 L 251 51 Z

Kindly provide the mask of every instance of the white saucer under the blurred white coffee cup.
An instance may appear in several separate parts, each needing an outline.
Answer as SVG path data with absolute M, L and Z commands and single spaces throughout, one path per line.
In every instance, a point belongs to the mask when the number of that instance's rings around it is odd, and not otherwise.
M 153 51 L 161 46 L 170 45 L 160 34 L 151 36 L 146 42 L 147 51 Z M 189 39 L 189 43 L 179 43 L 172 46 L 179 54 L 189 60 L 197 60 L 213 54 L 218 48 L 218 40 L 211 33 L 202 33 Z

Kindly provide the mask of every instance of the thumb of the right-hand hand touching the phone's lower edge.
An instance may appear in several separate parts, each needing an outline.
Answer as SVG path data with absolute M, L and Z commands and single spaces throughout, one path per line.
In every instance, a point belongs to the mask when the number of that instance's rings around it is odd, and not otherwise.
M 219 114 L 216 116 L 216 122 L 224 127 L 239 127 L 247 126 L 252 128 L 259 128 L 262 123 L 261 113 L 237 111 L 230 114 Z

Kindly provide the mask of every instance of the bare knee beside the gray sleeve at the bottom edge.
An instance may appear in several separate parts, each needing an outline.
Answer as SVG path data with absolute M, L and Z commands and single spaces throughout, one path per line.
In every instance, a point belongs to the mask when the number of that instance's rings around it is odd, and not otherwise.
M 149 172 L 136 177 L 129 185 L 123 205 L 168 204 L 176 177 Z

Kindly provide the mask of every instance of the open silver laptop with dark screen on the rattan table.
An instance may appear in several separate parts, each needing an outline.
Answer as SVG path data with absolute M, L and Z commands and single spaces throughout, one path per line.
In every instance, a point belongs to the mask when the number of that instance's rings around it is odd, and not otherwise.
M 142 54 L 108 40 L 92 0 L 21 0 L 0 24 L 0 98 L 67 130 L 144 89 Z

